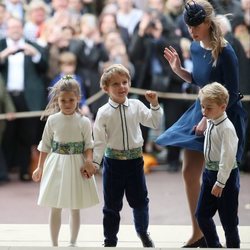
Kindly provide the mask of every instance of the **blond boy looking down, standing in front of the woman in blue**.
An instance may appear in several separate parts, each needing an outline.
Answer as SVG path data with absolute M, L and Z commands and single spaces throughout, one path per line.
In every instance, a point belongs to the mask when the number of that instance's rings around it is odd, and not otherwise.
M 238 232 L 239 169 L 236 162 L 238 137 L 226 108 L 228 91 L 220 83 L 199 91 L 205 131 L 205 170 L 196 209 L 196 218 L 209 248 L 221 248 L 213 216 L 218 211 L 225 232 L 226 247 L 240 248 Z

